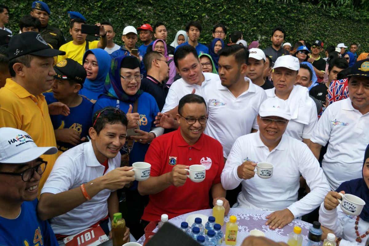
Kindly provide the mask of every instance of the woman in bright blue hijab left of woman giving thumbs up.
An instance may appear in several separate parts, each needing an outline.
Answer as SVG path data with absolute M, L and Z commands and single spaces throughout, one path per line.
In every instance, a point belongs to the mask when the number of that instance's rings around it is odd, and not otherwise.
M 83 67 L 87 77 L 79 94 L 90 100 L 97 100 L 104 92 L 104 83 L 109 72 L 111 58 L 103 49 L 89 49 L 83 55 Z

